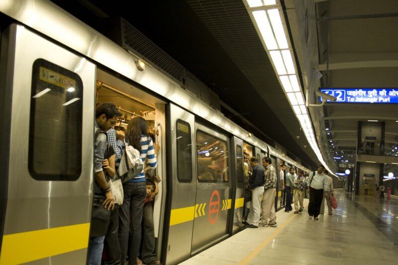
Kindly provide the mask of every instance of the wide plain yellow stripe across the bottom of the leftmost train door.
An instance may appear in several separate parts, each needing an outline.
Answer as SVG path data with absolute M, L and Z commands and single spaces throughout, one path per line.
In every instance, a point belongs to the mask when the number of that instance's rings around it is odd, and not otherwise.
M 90 223 L 3 236 L 0 265 L 21 264 L 87 248 Z

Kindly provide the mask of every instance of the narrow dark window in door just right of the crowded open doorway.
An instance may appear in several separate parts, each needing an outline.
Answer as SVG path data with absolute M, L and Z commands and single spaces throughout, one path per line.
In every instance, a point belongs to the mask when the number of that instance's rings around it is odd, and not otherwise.
M 192 181 L 191 126 L 177 120 L 177 178 L 180 182 Z

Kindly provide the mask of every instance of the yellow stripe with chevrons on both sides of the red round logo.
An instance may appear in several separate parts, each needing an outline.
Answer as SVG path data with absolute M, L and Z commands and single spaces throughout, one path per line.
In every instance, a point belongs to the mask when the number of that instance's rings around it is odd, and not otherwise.
M 244 198 L 235 200 L 235 209 L 243 207 Z M 231 209 L 232 199 L 222 200 L 222 211 Z M 170 226 L 182 224 L 206 215 L 206 203 L 195 204 L 195 206 L 176 208 L 171 210 Z

